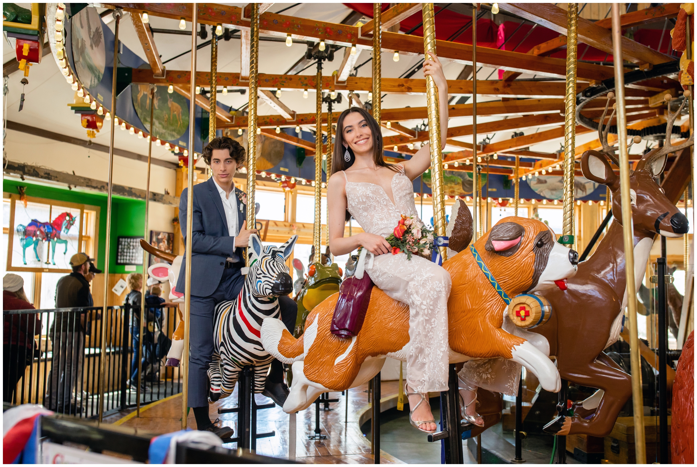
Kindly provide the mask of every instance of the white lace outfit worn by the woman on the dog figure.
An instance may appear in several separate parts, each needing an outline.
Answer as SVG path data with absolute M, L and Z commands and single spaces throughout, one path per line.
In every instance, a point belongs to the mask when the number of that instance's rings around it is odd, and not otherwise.
M 386 237 L 400 215 L 417 216 L 414 190 L 404 169 L 392 178 L 393 203 L 383 187 L 346 178 L 348 212 L 369 234 Z M 344 173 L 344 177 L 346 174 Z M 406 254 L 381 254 L 366 261 L 366 272 L 388 296 L 409 305 L 406 382 L 417 392 L 447 390 L 447 298 L 450 274 L 436 263 Z

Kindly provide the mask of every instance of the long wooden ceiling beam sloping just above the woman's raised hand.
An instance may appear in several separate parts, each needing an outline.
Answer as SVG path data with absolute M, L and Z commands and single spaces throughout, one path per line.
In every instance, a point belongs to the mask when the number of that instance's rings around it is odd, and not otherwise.
M 148 15 L 168 17 L 174 20 L 183 17 L 190 21 L 192 17 L 191 5 L 191 3 L 109 3 L 104 6 L 106 8 L 119 7 L 135 13 L 146 11 Z M 220 3 L 201 3 L 198 20 L 204 24 L 220 23 L 234 29 L 250 29 L 250 21 L 243 18 L 241 8 Z M 355 44 L 362 45 L 367 49 L 372 48 L 372 38 L 359 38 L 358 28 L 355 26 L 321 22 L 320 27 L 315 20 L 269 12 L 261 15 L 260 31 L 280 37 L 285 37 L 286 34 L 291 33 L 294 38 L 314 41 L 322 39 L 325 43 L 343 45 L 344 47 L 351 47 Z M 401 54 L 418 56 L 422 56 L 424 53 L 424 39 L 420 36 L 383 31 L 382 39 L 383 49 L 399 50 Z M 438 56 L 466 65 L 472 64 L 471 45 L 437 40 L 436 47 Z M 537 75 L 551 77 L 563 78 L 566 76 L 566 61 L 564 59 L 532 56 L 487 47 L 477 48 L 477 64 L 504 70 L 535 72 Z M 613 77 L 614 71 L 609 66 L 579 63 L 577 75 L 580 80 L 602 80 Z

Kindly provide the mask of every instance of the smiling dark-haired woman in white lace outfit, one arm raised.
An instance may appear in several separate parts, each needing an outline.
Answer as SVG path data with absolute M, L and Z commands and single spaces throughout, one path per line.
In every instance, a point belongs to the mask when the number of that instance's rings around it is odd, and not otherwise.
M 424 75 L 438 86 L 441 144 L 447 135 L 447 82 L 438 57 L 429 54 Z M 378 96 L 375 96 L 376 98 Z M 430 146 L 425 144 L 410 160 L 387 164 L 383 160 L 381 130 L 365 110 L 352 107 L 337 121 L 333 174 L 329 179 L 329 245 L 342 255 L 362 246 L 372 254 L 366 261 L 371 280 L 388 296 L 409 305 L 409 344 L 406 356 L 406 392 L 411 422 L 433 432 L 436 424 L 427 403 L 428 392 L 447 390 L 447 298 L 450 275 L 436 263 L 413 255 L 390 254 L 385 237 L 400 215 L 417 216 L 412 181 L 429 169 Z M 350 213 L 364 233 L 344 238 Z M 371 255 L 368 255 L 371 257 Z

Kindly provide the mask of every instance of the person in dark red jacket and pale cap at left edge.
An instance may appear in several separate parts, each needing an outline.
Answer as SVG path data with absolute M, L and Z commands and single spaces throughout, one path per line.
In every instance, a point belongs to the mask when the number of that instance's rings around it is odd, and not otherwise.
M 34 309 L 26 299 L 21 276 L 6 274 L 2 285 L 4 312 Z M 34 336 L 41 333 L 41 321 L 36 313 L 4 314 L 3 318 L 3 401 L 22 404 L 22 401 L 13 400 L 15 390 L 26 365 L 31 365 L 34 358 Z

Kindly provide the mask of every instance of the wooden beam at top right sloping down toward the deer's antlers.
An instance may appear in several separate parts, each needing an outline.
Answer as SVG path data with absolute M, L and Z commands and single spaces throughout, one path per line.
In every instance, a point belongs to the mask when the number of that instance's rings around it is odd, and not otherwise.
M 567 35 L 567 12 L 552 3 L 499 3 L 499 7 L 509 13 L 526 18 L 552 31 Z M 613 53 L 612 33 L 603 26 L 579 17 L 577 27 L 579 41 L 603 52 Z M 622 58 L 637 64 L 659 65 L 672 61 L 671 57 L 622 37 Z

